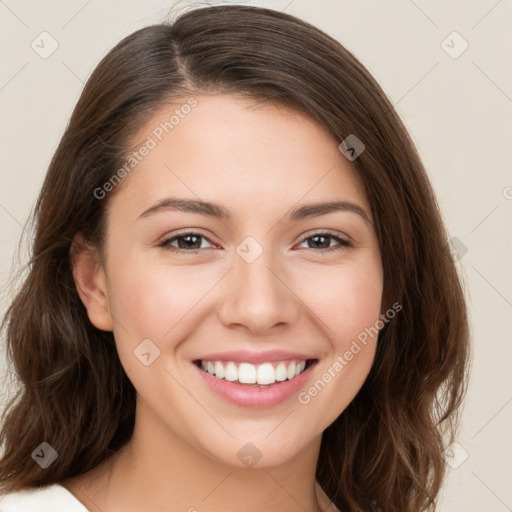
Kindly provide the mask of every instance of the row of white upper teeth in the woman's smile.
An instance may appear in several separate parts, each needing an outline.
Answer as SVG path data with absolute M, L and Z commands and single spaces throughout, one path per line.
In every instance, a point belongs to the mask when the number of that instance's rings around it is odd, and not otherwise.
M 229 381 L 238 380 L 241 384 L 273 384 L 276 380 L 282 382 L 293 379 L 304 371 L 306 361 L 281 361 L 253 365 L 250 363 L 228 363 L 222 361 L 201 360 L 201 368 L 215 375 L 218 379 Z

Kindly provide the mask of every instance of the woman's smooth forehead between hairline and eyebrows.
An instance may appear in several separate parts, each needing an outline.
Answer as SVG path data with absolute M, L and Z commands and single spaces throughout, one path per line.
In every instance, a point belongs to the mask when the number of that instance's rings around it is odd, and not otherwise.
M 141 127 L 132 145 L 138 161 L 115 201 L 142 209 L 181 195 L 245 215 L 350 199 L 370 210 L 339 142 L 310 117 L 234 95 L 191 98 L 163 105 Z M 141 157 L 143 146 L 150 149 Z

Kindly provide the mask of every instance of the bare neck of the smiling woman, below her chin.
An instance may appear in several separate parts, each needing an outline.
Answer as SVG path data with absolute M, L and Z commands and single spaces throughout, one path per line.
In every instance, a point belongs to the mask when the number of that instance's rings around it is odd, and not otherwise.
M 321 437 L 278 466 L 233 467 L 148 421 L 146 412 L 144 421 L 136 416 L 133 436 L 118 454 L 92 470 L 91 478 L 65 485 L 89 510 L 336 510 L 315 480 Z

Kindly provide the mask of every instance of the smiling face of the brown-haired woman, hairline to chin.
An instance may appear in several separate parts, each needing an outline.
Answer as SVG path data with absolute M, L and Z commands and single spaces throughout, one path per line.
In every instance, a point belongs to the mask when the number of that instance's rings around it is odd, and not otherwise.
M 231 466 L 246 465 L 244 446 L 277 465 L 320 439 L 372 365 L 383 275 L 371 208 L 314 121 L 195 98 L 161 140 L 179 104 L 138 134 L 135 149 L 155 147 L 107 198 L 88 314 L 113 330 L 148 429 Z

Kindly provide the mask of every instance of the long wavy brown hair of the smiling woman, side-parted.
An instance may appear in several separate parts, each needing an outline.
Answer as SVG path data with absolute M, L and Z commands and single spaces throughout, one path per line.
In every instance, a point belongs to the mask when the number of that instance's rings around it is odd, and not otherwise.
M 237 93 L 291 106 L 339 142 L 372 206 L 385 297 L 402 306 L 381 330 L 362 389 L 324 431 L 317 479 L 342 510 L 434 510 L 467 381 L 469 332 L 461 281 L 424 167 L 377 82 L 339 42 L 291 15 L 249 6 L 189 10 L 118 43 L 89 78 L 50 163 L 33 212 L 27 275 L 5 315 L 19 381 L 0 431 L 0 489 L 82 474 L 132 434 L 135 389 L 113 334 L 95 328 L 77 294 L 70 245 L 102 248 L 101 189 L 137 130 L 165 102 Z M 57 460 L 42 469 L 33 451 Z

